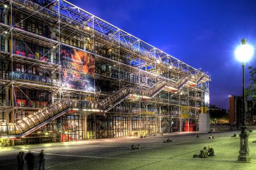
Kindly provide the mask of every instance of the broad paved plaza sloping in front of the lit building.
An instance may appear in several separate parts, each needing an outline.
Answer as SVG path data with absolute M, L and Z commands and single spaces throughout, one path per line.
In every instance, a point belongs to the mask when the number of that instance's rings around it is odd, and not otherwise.
M 0 149 L 0 169 L 17 169 L 16 155 L 31 150 L 36 156 L 44 149 L 47 169 L 256 169 L 256 133 L 249 137 L 251 163 L 238 163 L 240 138 L 231 137 L 239 131 L 209 134 L 173 133 L 146 138 L 97 139 L 68 143 L 15 146 Z M 163 143 L 170 138 L 172 143 Z M 129 150 L 131 145 L 141 150 Z M 212 145 L 216 156 L 193 158 L 204 146 Z M 26 163 L 24 165 L 26 169 Z

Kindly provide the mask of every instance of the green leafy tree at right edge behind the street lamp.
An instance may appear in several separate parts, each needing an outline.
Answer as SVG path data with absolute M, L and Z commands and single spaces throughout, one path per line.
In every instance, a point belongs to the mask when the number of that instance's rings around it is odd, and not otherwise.
M 256 100 L 256 67 L 248 67 L 250 73 L 250 84 L 245 89 L 245 96 L 247 100 Z

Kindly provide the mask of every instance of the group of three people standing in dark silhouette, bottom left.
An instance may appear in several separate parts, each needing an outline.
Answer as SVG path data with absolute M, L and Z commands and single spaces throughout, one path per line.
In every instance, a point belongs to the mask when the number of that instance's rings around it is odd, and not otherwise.
M 17 161 L 18 161 L 18 170 L 23 170 L 24 167 L 24 160 L 27 162 L 27 169 L 33 170 L 34 169 L 34 154 L 31 153 L 31 151 L 28 151 L 25 155 L 24 152 L 19 152 L 17 155 Z M 39 170 L 44 170 L 46 163 L 46 154 L 44 153 L 44 150 L 41 150 L 39 154 Z

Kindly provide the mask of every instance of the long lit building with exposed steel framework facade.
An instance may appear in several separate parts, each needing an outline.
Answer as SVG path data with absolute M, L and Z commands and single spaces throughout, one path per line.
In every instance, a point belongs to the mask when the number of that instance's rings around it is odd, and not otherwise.
M 197 130 L 208 73 L 65 0 L 1 0 L 0 12 L 2 125 L 21 131 L 26 117 L 68 99 L 75 105 L 34 122 L 26 136 L 62 122 L 76 124 L 76 139 L 183 131 L 184 121 Z M 92 89 L 63 84 L 63 46 L 93 55 Z

